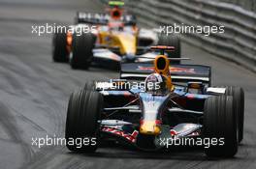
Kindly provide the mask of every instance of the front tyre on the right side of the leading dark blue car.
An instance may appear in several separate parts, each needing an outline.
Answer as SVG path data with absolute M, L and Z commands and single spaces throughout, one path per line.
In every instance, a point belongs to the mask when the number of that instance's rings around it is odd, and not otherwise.
M 232 157 L 238 152 L 238 123 L 230 96 L 210 97 L 204 107 L 204 139 L 216 141 L 205 147 L 210 157 Z

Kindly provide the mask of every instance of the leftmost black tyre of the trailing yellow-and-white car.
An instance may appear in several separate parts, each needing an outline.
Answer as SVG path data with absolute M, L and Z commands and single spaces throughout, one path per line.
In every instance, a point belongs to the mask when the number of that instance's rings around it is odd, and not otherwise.
M 52 60 L 53 62 L 68 62 L 67 35 L 55 33 L 52 37 Z

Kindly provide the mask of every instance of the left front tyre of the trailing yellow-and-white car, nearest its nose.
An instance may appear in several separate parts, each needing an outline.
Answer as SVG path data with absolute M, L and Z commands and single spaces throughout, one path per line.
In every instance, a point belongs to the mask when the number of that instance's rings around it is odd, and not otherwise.
M 74 34 L 70 65 L 72 69 L 88 69 L 92 61 L 95 37 L 90 33 Z

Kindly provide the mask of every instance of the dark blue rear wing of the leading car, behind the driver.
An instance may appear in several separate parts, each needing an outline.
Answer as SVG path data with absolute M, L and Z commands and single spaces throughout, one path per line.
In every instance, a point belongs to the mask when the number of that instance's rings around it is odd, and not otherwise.
M 154 71 L 151 63 L 124 63 L 121 64 L 120 78 L 127 80 L 144 80 Z M 187 83 L 199 81 L 210 85 L 210 67 L 201 65 L 173 65 L 170 66 L 173 82 Z

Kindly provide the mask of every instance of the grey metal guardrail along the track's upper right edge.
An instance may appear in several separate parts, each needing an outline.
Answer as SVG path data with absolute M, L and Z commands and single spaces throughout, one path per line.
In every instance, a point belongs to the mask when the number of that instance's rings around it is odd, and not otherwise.
M 256 71 L 256 13 L 251 12 L 256 12 L 256 0 L 249 1 L 127 0 L 126 6 L 139 22 L 154 28 L 174 23 L 225 26 L 224 34 L 186 34 L 181 39 Z M 240 3 L 251 11 L 234 5 Z

